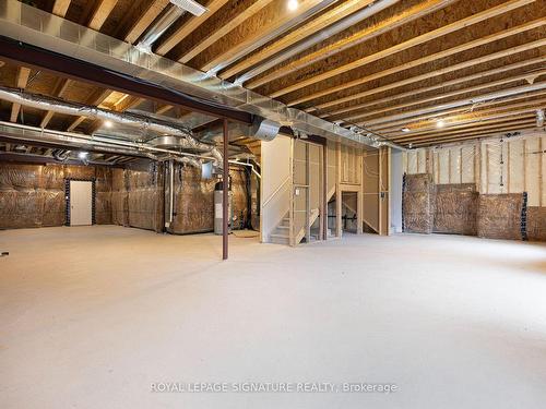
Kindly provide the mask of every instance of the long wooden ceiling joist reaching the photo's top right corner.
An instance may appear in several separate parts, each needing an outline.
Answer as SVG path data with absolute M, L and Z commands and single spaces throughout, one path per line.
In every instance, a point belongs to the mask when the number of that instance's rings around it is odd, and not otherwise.
M 292 93 L 294 91 L 301 89 L 308 85 L 312 85 L 312 84 L 322 82 L 322 81 L 331 79 L 333 76 L 343 74 L 344 72 L 364 67 L 366 64 L 369 64 L 370 62 L 378 61 L 382 58 L 392 56 L 393 53 L 396 53 L 396 52 L 400 52 L 403 50 L 407 50 L 412 47 L 415 47 L 415 46 L 425 44 L 427 41 L 440 38 L 447 34 L 454 33 L 461 28 L 468 27 L 470 25 L 483 22 L 485 20 L 491 19 L 491 17 L 500 15 L 500 14 L 505 14 L 511 10 L 530 4 L 534 1 L 535 0 L 510 0 L 510 1 L 507 1 L 502 4 L 494 7 L 491 9 L 487 9 L 483 12 L 470 15 L 466 19 L 459 20 L 454 23 L 444 25 L 440 28 L 437 28 L 437 29 L 434 29 L 434 31 L 428 32 L 426 34 L 423 34 L 420 36 L 414 37 L 407 41 L 396 44 L 392 47 L 389 47 L 389 48 L 385 48 L 381 51 L 375 52 L 370 56 L 366 56 L 366 57 L 360 58 L 358 60 L 355 60 L 348 64 L 344 64 L 342 67 L 337 67 L 335 69 L 328 70 L 321 74 L 313 75 L 313 76 L 311 76 L 307 80 L 304 80 L 304 81 L 299 81 L 296 84 L 293 84 L 290 86 L 283 87 L 278 91 L 272 93 L 270 96 L 275 98 L 275 97 L 280 97 L 282 95 Z

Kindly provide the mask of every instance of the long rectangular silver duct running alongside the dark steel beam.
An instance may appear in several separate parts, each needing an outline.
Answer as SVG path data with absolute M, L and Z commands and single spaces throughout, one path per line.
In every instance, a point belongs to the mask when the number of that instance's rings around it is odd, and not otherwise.
M 391 0 L 385 0 L 391 1 Z M 0 1 L 0 35 L 54 52 L 88 61 L 215 104 L 293 127 L 294 111 L 270 97 L 183 65 L 143 52 L 128 43 L 72 23 L 16 0 Z M 299 111 L 301 112 L 301 111 Z M 302 112 L 306 113 L 306 112 Z M 377 147 L 377 142 L 308 115 L 298 129 L 344 144 Z M 379 142 L 380 144 L 382 142 Z M 396 146 L 403 149 L 402 146 Z

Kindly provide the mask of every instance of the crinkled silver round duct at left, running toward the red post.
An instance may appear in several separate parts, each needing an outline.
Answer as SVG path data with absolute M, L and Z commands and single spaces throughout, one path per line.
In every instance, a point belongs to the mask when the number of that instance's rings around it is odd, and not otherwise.
M 130 113 L 114 112 L 92 106 L 67 103 L 8 87 L 0 87 L 0 99 L 5 99 L 12 104 L 21 104 L 26 107 L 46 111 L 50 110 L 57 113 L 83 116 L 93 119 L 112 121 L 121 125 L 144 130 L 147 129 L 157 133 L 168 134 L 170 137 L 177 137 L 178 148 L 207 152 L 217 161 L 218 166 L 222 166 L 223 163 L 222 154 L 214 146 L 199 142 L 188 130 L 182 130 L 153 118 L 143 118 Z

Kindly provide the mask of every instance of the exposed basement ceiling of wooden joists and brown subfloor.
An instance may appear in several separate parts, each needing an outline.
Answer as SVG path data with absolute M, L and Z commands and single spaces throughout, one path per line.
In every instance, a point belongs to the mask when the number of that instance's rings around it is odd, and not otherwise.
M 168 0 L 25 1 L 132 44 Z M 343 127 L 427 146 L 536 128 L 546 107 L 546 0 L 200 1 L 152 50 Z M 118 111 L 146 101 L 3 64 L 4 86 Z M 149 105 L 146 105 L 149 106 Z M 2 103 L 4 120 L 93 132 L 98 121 Z M 157 115 L 187 111 L 154 105 Z

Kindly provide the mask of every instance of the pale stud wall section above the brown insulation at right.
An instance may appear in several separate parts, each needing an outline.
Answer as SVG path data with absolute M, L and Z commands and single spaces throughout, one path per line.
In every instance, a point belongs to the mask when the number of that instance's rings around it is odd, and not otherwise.
M 431 172 L 435 182 L 476 183 L 479 193 L 529 194 L 529 206 L 546 206 L 546 132 L 488 139 L 404 153 L 408 175 Z

